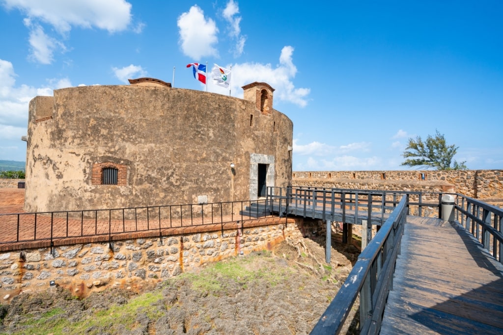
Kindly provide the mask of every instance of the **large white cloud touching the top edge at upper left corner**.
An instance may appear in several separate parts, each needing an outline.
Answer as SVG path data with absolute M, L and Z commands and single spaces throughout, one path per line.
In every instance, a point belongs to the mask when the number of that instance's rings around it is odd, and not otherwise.
M 63 41 L 71 27 L 98 28 L 110 33 L 123 31 L 131 23 L 131 4 L 124 0 L 4 0 L 7 10 L 17 9 L 26 15 L 25 26 L 30 30 L 29 42 L 33 61 L 50 64 L 54 52 L 65 52 Z M 54 28 L 58 35 L 49 35 L 44 25 Z M 139 24 L 134 31 L 141 31 Z

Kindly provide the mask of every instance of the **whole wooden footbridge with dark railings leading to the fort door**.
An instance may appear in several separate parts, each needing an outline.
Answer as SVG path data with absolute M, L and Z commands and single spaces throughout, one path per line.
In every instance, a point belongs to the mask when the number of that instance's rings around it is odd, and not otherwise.
M 380 226 L 311 334 L 344 331 L 357 296 L 361 333 L 503 334 L 500 208 L 461 194 L 444 203 L 443 194 L 423 201 L 424 194 L 406 192 L 401 199 L 398 192 L 364 190 L 284 193 L 289 208 L 277 204 L 283 214 L 321 218 L 327 228 L 343 216 L 368 230 Z M 409 215 L 414 206 L 416 215 Z M 423 206 L 443 219 L 420 216 Z

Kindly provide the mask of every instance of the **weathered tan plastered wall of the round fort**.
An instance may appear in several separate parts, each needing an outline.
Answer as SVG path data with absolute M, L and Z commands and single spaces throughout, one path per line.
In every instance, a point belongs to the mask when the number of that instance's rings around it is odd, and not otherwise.
M 268 186 L 289 185 L 292 137 L 291 120 L 261 113 L 255 99 L 169 87 L 58 89 L 30 102 L 25 210 L 248 200 L 255 154 L 274 158 Z M 126 185 L 93 184 L 100 163 L 127 166 Z

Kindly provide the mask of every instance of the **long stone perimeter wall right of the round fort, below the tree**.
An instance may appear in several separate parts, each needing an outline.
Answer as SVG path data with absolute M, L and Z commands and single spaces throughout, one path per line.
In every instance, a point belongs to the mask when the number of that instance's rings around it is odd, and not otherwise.
M 503 170 L 295 171 L 292 184 L 352 189 L 455 192 L 478 199 L 503 199 Z

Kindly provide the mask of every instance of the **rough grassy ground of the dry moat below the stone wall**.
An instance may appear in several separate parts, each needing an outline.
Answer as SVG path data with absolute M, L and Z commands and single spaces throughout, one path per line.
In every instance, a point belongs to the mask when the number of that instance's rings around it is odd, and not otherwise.
M 112 289 L 78 300 L 56 287 L 22 294 L 0 305 L 0 333 L 308 334 L 359 253 L 334 236 L 326 264 L 323 244 L 286 241 L 273 252 L 213 263 L 142 293 Z M 356 333 L 357 314 L 348 333 Z

